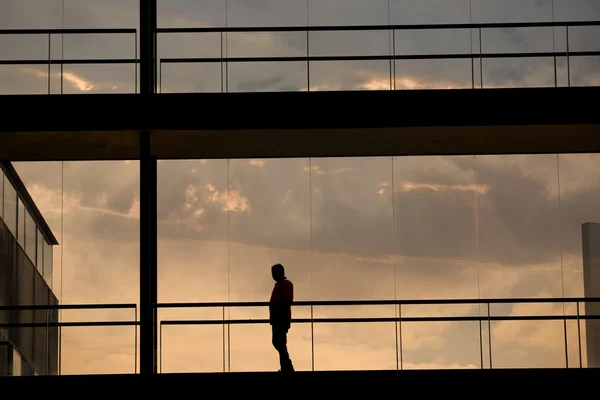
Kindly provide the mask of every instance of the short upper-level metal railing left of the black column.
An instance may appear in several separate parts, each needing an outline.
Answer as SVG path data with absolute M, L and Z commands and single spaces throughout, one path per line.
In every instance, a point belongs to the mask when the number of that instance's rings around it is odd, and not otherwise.
M 63 59 L 52 57 L 52 37 L 64 35 L 118 35 L 118 34 L 130 34 L 134 36 L 133 58 L 77 58 L 77 59 Z M 138 92 L 138 33 L 137 29 L 134 28 L 118 28 L 118 29 L 0 29 L 0 36 L 6 35 L 44 35 L 48 37 L 48 53 L 45 59 L 0 59 L 0 66 L 2 65 L 47 65 L 48 66 L 48 93 L 51 92 L 50 83 L 52 81 L 52 65 L 60 66 L 60 93 L 64 90 L 64 66 L 65 65 L 118 65 L 118 64 L 131 64 L 135 70 L 134 78 L 134 92 Z M 61 47 L 64 43 L 61 44 Z

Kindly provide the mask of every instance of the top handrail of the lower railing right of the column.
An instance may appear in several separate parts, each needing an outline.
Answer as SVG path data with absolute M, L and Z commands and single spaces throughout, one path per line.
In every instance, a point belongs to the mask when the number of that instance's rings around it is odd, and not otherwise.
M 361 306 L 361 305 L 458 305 L 458 304 L 517 304 L 517 303 L 597 303 L 600 297 L 528 297 L 490 299 L 430 299 L 430 300 L 325 300 L 294 301 L 292 307 L 310 306 Z M 155 308 L 216 308 L 216 307 L 267 307 L 268 301 L 247 302 L 190 302 L 155 303 Z

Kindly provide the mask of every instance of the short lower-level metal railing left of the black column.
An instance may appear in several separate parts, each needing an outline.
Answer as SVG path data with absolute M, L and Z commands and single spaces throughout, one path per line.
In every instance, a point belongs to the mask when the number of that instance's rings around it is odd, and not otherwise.
M 134 310 L 134 319 L 131 321 L 51 321 L 50 311 L 64 310 Z M 138 307 L 137 304 L 58 304 L 58 305 L 13 305 L 0 306 L 0 317 L 5 312 L 27 312 L 27 311 L 45 311 L 45 322 L 9 322 L 0 323 L 0 329 L 22 329 L 22 328 L 45 328 L 46 329 L 46 349 L 45 359 L 48 362 L 49 330 L 50 328 L 66 328 L 66 327 L 103 327 L 103 326 L 133 326 L 134 327 L 134 373 L 138 370 Z M 34 317 L 32 317 L 34 318 Z M 6 319 L 6 318 L 2 318 Z M 10 317 L 8 318 L 10 319 Z M 60 375 L 62 362 L 62 344 L 61 331 L 58 333 L 58 374 Z M 18 350 L 18 349 L 17 349 Z

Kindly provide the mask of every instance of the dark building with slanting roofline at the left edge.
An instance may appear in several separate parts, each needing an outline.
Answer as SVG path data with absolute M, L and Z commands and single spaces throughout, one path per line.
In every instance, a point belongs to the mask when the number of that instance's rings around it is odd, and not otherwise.
M 58 310 L 45 308 L 58 304 L 56 244 L 17 172 L 0 162 L 0 376 L 58 372 Z

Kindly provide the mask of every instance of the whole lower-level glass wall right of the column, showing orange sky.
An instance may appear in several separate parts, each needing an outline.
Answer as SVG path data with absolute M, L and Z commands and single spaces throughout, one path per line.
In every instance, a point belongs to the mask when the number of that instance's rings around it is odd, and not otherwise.
M 281 262 L 296 300 L 515 300 L 489 310 L 317 306 L 315 318 L 483 320 L 298 323 L 289 339 L 298 370 L 578 366 L 586 338 L 575 321 L 486 319 L 576 312 L 518 299 L 584 295 L 581 225 L 600 223 L 597 158 L 161 161 L 159 302 L 267 301 L 270 266 Z M 256 307 L 160 311 L 162 371 L 276 370 L 268 325 L 164 324 L 267 316 Z

